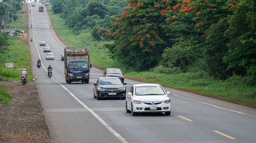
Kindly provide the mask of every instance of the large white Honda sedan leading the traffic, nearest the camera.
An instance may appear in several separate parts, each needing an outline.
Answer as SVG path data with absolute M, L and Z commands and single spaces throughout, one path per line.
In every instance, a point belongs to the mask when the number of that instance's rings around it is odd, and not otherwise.
M 133 85 L 126 95 L 126 113 L 136 116 L 138 112 L 165 112 L 171 114 L 171 101 L 159 84 Z

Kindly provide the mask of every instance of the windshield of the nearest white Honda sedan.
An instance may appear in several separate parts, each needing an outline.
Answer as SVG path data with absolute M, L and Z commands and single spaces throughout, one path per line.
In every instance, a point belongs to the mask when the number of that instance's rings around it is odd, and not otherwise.
M 137 86 L 135 89 L 136 95 L 165 95 L 165 92 L 160 86 Z

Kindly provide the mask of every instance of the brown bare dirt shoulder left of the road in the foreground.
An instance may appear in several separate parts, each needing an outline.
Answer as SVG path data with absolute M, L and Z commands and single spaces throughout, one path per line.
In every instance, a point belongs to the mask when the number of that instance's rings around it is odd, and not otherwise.
M 6 83 L 6 84 L 5 84 Z M 0 82 L 13 97 L 0 105 L 0 143 L 47 142 L 47 128 L 38 102 L 35 83 Z

